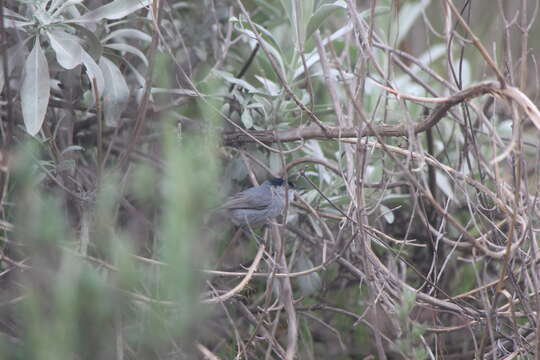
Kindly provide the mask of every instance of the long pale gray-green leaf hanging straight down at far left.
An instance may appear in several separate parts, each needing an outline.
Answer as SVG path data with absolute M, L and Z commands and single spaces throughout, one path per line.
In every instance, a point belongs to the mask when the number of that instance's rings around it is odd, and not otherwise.
M 51 89 L 49 87 L 49 64 L 41 49 L 39 37 L 24 64 L 21 85 L 21 106 L 26 131 L 36 135 L 45 119 Z

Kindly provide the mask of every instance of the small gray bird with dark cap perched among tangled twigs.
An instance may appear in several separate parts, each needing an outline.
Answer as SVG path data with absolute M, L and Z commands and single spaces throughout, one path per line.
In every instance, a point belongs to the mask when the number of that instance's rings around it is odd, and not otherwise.
M 294 185 L 288 181 L 288 200 L 294 197 Z M 231 196 L 220 209 L 227 210 L 237 226 L 257 226 L 274 219 L 285 209 L 285 180 L 271 178 L 259 186 Z

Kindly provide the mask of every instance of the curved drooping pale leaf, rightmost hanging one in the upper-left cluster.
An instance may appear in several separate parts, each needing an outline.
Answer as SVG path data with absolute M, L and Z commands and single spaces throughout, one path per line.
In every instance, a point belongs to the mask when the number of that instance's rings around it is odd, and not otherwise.
M 103 77 L 108 80 L 103 91 L 103 111 L 105 114 L 105 124 L 116 126 L 122 112 L 127 107 L 129 100 L 129 88 L 124 75 L 120 69 L 105 56 L 99 59 L 99 67 Z

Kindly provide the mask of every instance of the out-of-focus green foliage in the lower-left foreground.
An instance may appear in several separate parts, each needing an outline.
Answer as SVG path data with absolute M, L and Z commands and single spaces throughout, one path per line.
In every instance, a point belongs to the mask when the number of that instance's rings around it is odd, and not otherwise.
M 202 224 L 215 205 L 218 167 L 212 136 L 163 133 L 163 174 L 134 168 L 121 183 L 107 171 L 81 202 L 78 229 L 62 198 L 36 182 L 43 148 L 30 141 L 15 150 L 6 199 L 15 231 L 4 250 L 18 269 L 4 278 L 2 299 L 10 303 L 3 305 L 0 357 L 111 359 L 123 349 L 127 358 L 185 355 L 182 344 L 203 316 L 195 265 L 210 258 Z M 137 258 L 140 219 L 121 219 L 122 198 L 155 213 L 151 238 L 141 244 L 155 263 Z

